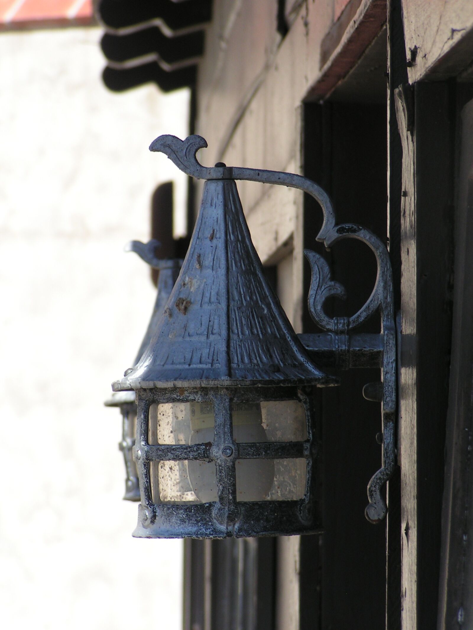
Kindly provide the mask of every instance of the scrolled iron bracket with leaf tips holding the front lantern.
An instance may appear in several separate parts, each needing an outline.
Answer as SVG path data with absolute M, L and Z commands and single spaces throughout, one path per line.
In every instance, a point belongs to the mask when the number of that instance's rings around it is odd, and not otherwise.
M 375 388 L 375 396 L 373 394 L 370 396 L 368 390 L 364 392 L 366 398 L 378 400 L 382 405 L 382 467 L 368 484 L 369 505 L 365 510 L 366 518 L 371 523 L 378 523 L 387 513 L 382 488 L 394 473 L 396 464 L 396 333 L 392 270 L 388 251 L 382 241 L 364 227 L 356 224 L 337 226 L 329 195 L 313 181 L 293 173 L 228 167 L 222 163 L 207 168 L 199 164 L 196 158 L 197 151 L 206 146 L 206 140 L 199 135 L 190 135 L 185 140 L 173 135 L 161 135 L 151 143 L 149 150 L 163 152 L 181 171 L 196 179 L 259 181 L 303 190 L 315 198 L 322 209 L 324 222 L 317 241 L 330 248 L 342 239 L 357 239 L 368 245 L 375 254 L 377 279 L 365 305 L 349 318 L 329 318 L 324 311 L 325 301 L 333 296 L 343 299 L 346 295 L 345 289 L 339 282 L 332 280 L 324 258 L 313 251 L 305 251 L 312 269 L 308 295 L 310 314 L 313 321 L 326 333 L 300 335 L 300 340 L 308 353 L 317 358 L 322 367 L 324 364 L 344 369 L 377 365 L 381 369 L 382 387 Z M 377 311 L 381 319 L 380 335 L 356 335 L 352 332 Z M 364 357 L 364 360 L 358 363 L 359 357 Z

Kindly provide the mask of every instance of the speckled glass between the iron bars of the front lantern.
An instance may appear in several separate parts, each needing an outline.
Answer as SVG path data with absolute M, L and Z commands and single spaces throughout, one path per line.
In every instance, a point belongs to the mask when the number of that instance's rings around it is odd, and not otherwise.
M 305 408 L 300 401 L 233 402 L 233 438 L 237 443 L 293 442 L 307 439 Z M 214 440 L 210 402 L 154 403 L 149 409 L 148 443 L 208 444 Z M 305 459 L 238 459 L 239 501 L 296 500 L 304 496 Z M 155 503 L 217 501 L 214 462 L 150 462 Z

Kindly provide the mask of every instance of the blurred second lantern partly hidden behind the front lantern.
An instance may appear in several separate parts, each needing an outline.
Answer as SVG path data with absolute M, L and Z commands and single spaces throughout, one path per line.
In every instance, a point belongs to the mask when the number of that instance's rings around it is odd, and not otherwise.
M 143 355 L 144 350 L 149 345 L 153 336 L 156 324 L 164 311 L 175 281 L 177 279 L 182 260 L 165 260 L 156 256 L 156 251 L 160 248 L 159 241 L 152 239 L 148 243 L 141 241 L 131 241 L 126 246 L 126 251 L 134 251 L 153 269 L 158 270 L 158 293 L 156 295 L 155 306 L 149 320 L 148 328 L 141 341 L 133 365 L 136 365 Z M 139 501 L 139 484 L 136 471 L 136 464 L 132 458 L 132 449 L 135 444 L 136 435 L 136 394 L 134 391 L 114 392 L 105 401 L 107 407 L 118 407 L 122 415 L 122 439 L 119 442 L 119 449 L 123 453 L 125 463 L 125 501 Z

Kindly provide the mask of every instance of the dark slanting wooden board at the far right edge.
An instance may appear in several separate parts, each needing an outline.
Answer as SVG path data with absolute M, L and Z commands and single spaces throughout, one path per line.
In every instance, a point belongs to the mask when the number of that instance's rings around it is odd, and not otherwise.
M 443 497 L 439 630 L 470 627 L 473 619 L 473 101 L 462 112 L 458 203 L 455 212 L 455 293 L 452 367 Z

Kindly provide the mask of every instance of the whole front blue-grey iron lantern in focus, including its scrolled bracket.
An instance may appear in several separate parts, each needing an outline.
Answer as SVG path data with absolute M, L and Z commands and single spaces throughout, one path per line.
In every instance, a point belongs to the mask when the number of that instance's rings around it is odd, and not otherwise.
M 114 391 L 136 391 L 141 505 L 136 537 L 271 536 L 321 529 L 315 500 L 313 387 L 337 384 L 322 367 L 380 367 L 382 467 L 368 486 L 366 517 L 382 520 L 381 491 L 395 466 L 395 327 L 388 253 L 371 232 L 336 226 L 332 203 L 299 175 L 218 163 L 196 152 L 206 141 L 163 135 L 150 146 L 187 175 L 207 180 L 182 270 L 148 347 Z M 272 293 L 250 239 L 235 180 L 291 186 L 324 214 L 318 241 L 354 238 L 375 253 L 373 292 L 354 316 L 330 319 L 325 300 L 343 297 L 327 263 L 312 266 L 309 306 L 325 333 L 296 335 Z M 380 312 L 378 335 L 352 331 Z

